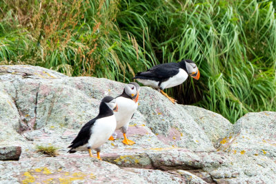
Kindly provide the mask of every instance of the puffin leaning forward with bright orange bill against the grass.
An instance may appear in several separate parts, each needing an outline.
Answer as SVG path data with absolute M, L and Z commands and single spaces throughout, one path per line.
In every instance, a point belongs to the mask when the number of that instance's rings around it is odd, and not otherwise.
M 164 94 L 172 103 L 175 103 L 176 100 L 170 98 L 163 90 L 183 83 L 188 78 L 188 75 L 197 80 L 200 76 L 194 61 L 185 59 L 179 63 L 155 65 L 146 72 L 138 72 L 133 79 L 137 79 L 137 81 L 144 85 L 158 89 L 161 94 Z

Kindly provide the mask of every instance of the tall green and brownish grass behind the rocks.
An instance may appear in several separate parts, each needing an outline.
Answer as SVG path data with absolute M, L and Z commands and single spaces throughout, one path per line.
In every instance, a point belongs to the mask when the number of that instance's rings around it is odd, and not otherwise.
M 0 64 L 129 82 L 158 63 L 193 59 L 199 81 L 169 89 L 179 103 L 235 123 L 276 111 L 273 1 L 0 2 Z

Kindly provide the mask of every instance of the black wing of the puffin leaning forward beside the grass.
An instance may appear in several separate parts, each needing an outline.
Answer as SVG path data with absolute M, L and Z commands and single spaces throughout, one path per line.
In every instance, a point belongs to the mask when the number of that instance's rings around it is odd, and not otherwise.
M 134 79 L 168 79 L 171 76 L 176 75 L 179 72 L 178 63 L 164 63 L 155 65 L 146 72 L 139 72 Z

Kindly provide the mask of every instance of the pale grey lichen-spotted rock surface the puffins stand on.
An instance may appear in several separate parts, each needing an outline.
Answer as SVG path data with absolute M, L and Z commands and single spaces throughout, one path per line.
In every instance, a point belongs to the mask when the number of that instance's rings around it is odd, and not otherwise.
M 124 145 L 117 132 L 98 161 L 67 147 L 103 96 L 118 96 L 124 83 L 2 65 L 0 89 L 0 147 L 22 150 L 19 161 L 0 161 L 0 183 L 276 182 L 276 112 L 248 113 L 232 125 L 142 87 L 127 133 L 136 144 Z M 53 145 L 59 155 L 40 154 L 37 145 Z

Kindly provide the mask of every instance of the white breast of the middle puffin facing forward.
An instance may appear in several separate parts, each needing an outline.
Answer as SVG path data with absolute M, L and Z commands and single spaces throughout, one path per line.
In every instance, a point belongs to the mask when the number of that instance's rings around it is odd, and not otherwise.
M 129 123 L 132 115 L 137 110 L 138 103 L 135 103 L 132 99 L 127 99 L 121 96 L 116 99 L 116 103 L 118 105 L 118 112 L 114 112 L 114 114 L 117 121 L 117 130 Z

